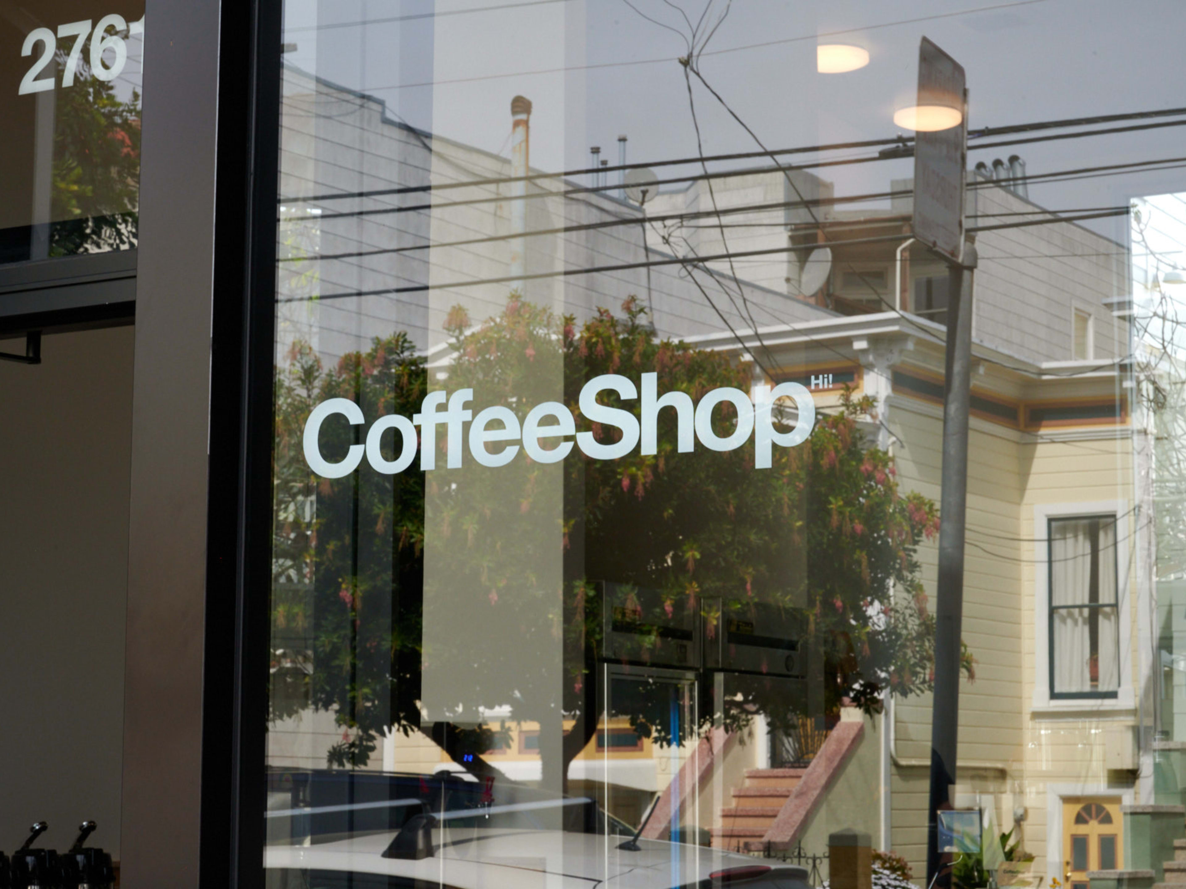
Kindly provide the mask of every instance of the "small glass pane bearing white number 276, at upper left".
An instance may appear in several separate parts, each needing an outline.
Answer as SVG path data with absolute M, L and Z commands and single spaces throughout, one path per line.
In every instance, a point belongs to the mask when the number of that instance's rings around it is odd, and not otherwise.
M 136 245 L 144 0 L 6 2 L 0 263 Z

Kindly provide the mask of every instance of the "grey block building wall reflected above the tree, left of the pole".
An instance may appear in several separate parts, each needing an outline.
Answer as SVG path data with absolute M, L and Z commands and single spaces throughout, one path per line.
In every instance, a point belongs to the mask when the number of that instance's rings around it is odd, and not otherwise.
M 525 230 L 544 234 L 525 238 L 527 280 L 509 280 L 511 185 L 485 181 L 511 174 L 508 158 L 412 130 L 387 116 L 382 102 L 293 68 L 285 70 L 283 90 L 281 257 L 299 261 L 281 262 L 280 357 L 300 338 L 337 359 L 396 330 L 428 350 L 446 340 L 445 319 L 453 306 L 478 322 L 502 312 L 512 289 L 557 314 L 574 314 L 578 322 L 600 307 L 619 312 L 633 295 L 651 308 L 664 337 L 829 314 L 786 295 L 788 260 L 782 254 L 765 264 L 739 261 L 740 290 L 727 263 L 713 264 L 714 274 L 695 270 L 697 287 L 655 230 L 646 234 L 644 248 L 637 206 L 612 191 L 584 192 L 585 183 L 562 178 L 527 185 Z M 506 127 L 509 132 L 509 110 Z M 531 168 L 533 174 L 542 172 Z M 726 183 L 729 187 L 718 196 L 722 207 L 747 203 L 759 191 L 774 205 L 783 200 L 778 175 L 741 183 L 740 191 L 733 179 Z M 363 191 L 370 194 L 326 197 Z M 771 229 L 728 230 L 729 250 L 784 248 L 782 213 L 759 215 Z M 682 234 L 710 237 L 695 228 L 710 223 L 689 220 Z M 712 249 L 719 251 L 719 231 L 716 238 Z M 420 245 L 432 249 L 408 249 Z M 337 258 L 313 260 L 315 254 Z M 632 268 L 616 268 L 620 266 Z M 562 274 L 589 268 L 604 270 Z

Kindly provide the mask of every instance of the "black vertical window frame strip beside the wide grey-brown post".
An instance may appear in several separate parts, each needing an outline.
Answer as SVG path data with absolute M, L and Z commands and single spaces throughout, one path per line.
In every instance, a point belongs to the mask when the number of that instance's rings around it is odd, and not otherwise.
M 222 4 L 200 884 L 262 889 L 281 0 Z

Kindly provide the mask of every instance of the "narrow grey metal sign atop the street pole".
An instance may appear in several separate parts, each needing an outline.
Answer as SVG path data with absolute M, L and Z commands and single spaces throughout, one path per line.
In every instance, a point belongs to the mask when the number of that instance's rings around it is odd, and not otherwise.
M 914 237 L 952 262 L 963 256 L 968 166 L 968 94 L 963 65 L 923 38 L 918 47 L 918 116 L 959 123 L 914 135 Z

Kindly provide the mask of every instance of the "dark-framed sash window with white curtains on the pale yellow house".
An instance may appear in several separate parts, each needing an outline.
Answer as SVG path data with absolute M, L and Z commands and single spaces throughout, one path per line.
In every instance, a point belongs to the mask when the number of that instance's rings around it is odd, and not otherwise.
M 1051 697 L 1116 697 L 1116 517 L 1051 519 L 1048 530 Z

